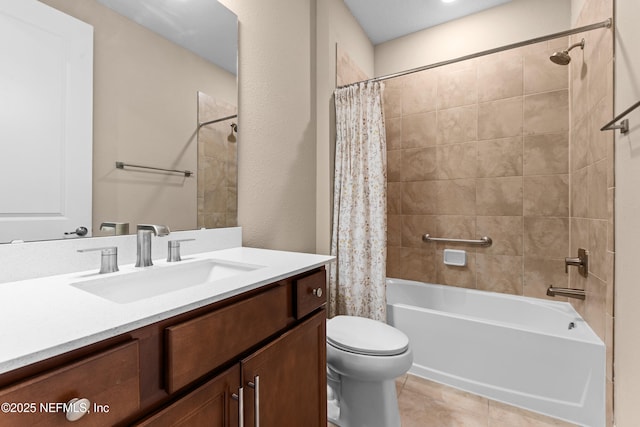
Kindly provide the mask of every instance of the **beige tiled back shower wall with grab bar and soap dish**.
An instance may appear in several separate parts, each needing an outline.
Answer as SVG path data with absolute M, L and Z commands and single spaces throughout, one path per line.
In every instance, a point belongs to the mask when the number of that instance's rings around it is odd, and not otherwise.
M 569 69 L 548 59 L 567 43 L 386 82 L 387 276 L 535 297 L 568 285 Z M 445 248 L 467 265 L 445 265 Z

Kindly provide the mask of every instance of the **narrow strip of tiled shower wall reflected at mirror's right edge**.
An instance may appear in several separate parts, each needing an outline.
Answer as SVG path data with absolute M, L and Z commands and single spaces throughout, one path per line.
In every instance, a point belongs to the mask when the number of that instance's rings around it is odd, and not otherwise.
M 198 92 L 199 123 L 234 114 L 236 107 Z M 237 119 L 198 129 L 198 228 L 235 227 L 238 223 L 238 150 L 237 143 L 227 138 L 231 123 Z

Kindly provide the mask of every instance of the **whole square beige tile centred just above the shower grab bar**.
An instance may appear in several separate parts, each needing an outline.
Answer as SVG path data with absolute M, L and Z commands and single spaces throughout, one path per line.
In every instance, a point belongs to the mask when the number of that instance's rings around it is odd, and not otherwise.
M 436 181 L 437 210 L 440 215 L 475 215 L 476 182 L 473 179 Z

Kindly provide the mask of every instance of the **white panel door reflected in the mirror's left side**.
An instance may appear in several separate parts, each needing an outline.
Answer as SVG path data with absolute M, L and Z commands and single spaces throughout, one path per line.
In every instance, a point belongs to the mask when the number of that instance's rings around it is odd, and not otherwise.
M 91 235 L 93 27 L 0 0 L 0 243 Z

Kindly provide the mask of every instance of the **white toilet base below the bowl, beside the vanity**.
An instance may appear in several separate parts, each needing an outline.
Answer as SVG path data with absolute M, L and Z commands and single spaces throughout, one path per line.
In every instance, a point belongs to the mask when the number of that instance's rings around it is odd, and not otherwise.
M 340 400 L 327 402 L 329 422 L 338 427 L 400 427 L 395 380 L 371 382 L 343 376 L 340 388 Z

